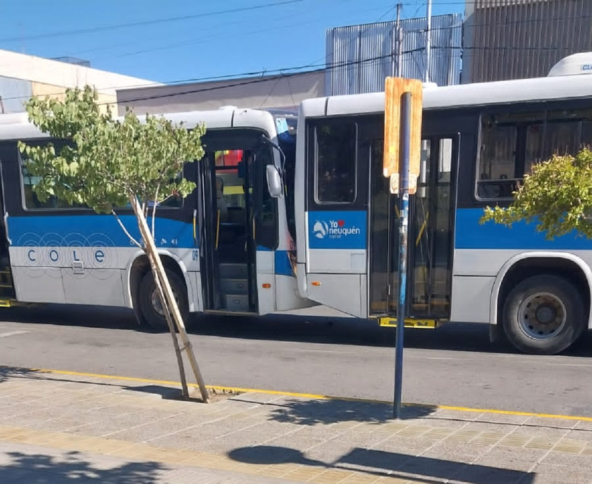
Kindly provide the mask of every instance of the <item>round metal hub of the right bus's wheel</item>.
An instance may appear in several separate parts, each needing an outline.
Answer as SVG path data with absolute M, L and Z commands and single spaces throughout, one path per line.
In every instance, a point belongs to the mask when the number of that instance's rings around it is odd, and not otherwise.
M 554 294 L 539 292 L 525 298 L 518 309 L 520 330 L 529 338 L 548 340 L 566 321 L 565 305 Z

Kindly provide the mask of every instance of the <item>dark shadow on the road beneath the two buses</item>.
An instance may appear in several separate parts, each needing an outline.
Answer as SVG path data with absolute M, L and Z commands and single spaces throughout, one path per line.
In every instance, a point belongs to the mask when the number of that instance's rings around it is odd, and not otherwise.
M 153 332 L 150 328 L 139 327 L 129 309 L 96 306 L 43 305 L 11 308 L 0 312 L 0 321 Z M 186 325 L 191 334 L 220 338 L 374 347 L 394 347 L 395 344 L 393 328 L 381 328 L 376 322 L 354 318 L 200 315 L 192 316 Z M 471 323 L 452 323 L 437 330 L 407 329 L 405 346 L 414 349 L 517 353 L 507 343 L 491 344 L 487 325 Z M 564 354 L 591 356 L 592 333 L 585 334 Z

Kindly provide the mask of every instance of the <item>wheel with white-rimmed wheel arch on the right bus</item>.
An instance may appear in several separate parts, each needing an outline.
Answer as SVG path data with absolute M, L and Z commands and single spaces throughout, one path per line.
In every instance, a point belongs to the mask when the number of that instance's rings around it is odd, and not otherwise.
M 492 301 L 498 330 L 525 353 L 556 354 L 570 347 L 590 321 L 589 267 L 572 254 L 540 254 L 506 269 Z

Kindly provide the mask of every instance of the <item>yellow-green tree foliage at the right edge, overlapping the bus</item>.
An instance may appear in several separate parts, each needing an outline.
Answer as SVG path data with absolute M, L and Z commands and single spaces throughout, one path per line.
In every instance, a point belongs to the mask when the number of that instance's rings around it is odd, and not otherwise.
M 592 238 L 592 151 L 535 164 L 514 196 L 507 208 L 486 207 L 481 224 L 535 222 L 536 230 L 548 239 L 574 230 Z

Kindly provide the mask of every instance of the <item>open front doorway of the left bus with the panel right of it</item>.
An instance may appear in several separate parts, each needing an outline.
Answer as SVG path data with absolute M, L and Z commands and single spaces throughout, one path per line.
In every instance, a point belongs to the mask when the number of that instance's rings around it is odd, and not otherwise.
M 207 151 L 198 168 L 205 311 L 264 314 L 275 309 L 277 201 L 265 196 L 269 192 L 262 183 L 272 151 L 247 146 Z

